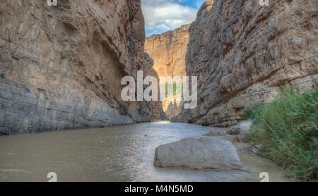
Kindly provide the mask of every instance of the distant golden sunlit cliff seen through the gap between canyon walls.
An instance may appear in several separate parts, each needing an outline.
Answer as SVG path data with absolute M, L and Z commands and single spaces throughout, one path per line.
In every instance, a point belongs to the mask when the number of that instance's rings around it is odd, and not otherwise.
M 145 51 L 154 61 L 153 68 L 158 76 L 185 76 L 185 56 L 189 42 L 190 25 L 182 25 L 173 31 L 146 38 Z M 163 81 L 160 81 L 163 85 Z M 163 101 L 163 110 L 167 118 L 177 116 L 181 112 L 181 102 L 175 97 Z

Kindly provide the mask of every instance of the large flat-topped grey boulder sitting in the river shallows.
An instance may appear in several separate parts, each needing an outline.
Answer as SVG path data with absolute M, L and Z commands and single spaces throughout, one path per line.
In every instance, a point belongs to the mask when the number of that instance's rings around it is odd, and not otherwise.
M 155 149 L 155 166 L 188 169 L 242 169 L 231 142 L 220 138 L 185 138 Z

